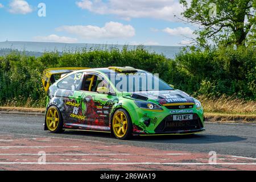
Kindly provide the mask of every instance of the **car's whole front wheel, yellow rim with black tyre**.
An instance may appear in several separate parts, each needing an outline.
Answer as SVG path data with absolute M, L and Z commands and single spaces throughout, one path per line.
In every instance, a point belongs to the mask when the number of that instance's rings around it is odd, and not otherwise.
M 112 118 L 112 129 L 116 138 L 125 140 L 131 138 L 133 124 L 130 115 L 123 109 L 115 111 Z

